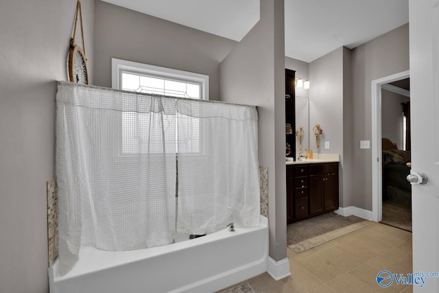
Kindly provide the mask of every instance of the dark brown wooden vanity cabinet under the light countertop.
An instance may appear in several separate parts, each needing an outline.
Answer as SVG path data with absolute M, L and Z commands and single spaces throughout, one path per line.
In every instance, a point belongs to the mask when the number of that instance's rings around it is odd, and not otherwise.
M 287 223 L 338 209 L 338 163 L 287 165 Z

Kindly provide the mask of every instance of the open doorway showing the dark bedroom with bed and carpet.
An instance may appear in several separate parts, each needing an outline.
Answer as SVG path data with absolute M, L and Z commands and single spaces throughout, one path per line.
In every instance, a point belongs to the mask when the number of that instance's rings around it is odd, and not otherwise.
M 412 231 L 410 78 L 381 85 L 382 224 Z

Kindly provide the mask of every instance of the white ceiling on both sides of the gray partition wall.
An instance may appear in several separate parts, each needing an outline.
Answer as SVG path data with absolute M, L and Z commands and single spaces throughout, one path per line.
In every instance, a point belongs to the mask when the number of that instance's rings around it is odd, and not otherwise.
M 103 0 L 217 36 L 241 40 L 259 21 L 259 0 Z M 409 21 L 408 0 L 285 0 L 285 56 L 311 62 Z

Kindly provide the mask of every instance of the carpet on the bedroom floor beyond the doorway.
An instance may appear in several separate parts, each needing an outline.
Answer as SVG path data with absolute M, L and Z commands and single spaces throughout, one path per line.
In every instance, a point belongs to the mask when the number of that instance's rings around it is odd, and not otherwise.
M 392 200 L 383 201 L 381 223 L 412 232 L 412 207 Z

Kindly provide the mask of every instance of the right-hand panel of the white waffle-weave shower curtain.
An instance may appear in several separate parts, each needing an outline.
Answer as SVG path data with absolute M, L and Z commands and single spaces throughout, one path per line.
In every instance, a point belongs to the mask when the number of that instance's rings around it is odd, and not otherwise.
M 177 100 L 177 231 L 259 226 L 255 107 Z

